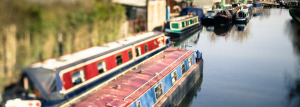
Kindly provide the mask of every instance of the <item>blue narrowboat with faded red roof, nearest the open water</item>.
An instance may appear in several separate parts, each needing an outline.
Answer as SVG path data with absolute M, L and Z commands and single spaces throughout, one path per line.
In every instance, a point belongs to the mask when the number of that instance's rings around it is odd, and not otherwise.
M 75 107 L 168 107 L 180 103 L 202 74 L 199 51 L 168 48 L 109 82 Z

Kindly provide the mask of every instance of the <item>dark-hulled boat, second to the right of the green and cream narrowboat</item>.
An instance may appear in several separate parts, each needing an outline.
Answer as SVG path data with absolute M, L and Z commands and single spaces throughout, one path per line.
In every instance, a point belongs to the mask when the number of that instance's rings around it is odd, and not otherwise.
M 215 24 L 231 24 L 232 23 L 232 13 L 229 10 L 221 10 L 215 16 Z

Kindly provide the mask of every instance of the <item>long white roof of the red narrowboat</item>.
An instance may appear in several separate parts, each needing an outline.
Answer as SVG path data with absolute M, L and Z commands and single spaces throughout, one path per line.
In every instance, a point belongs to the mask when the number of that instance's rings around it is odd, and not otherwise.
M 60 71 L 68 68 L 69 66 L 76 65 L 77 63 L 94 59 L 95 57 L 111 53 L 126 46 L 132 45 L 133 43 L 137 43 L 161 34 L 163 33 L 147 32 L 136 36 L 126 37 L 117 42 L 104 44 L 104 46 L 95 46 L 72 54 L 63 55 L 60 58 L 52 58 L 44 62 L 35 63 L 31 66 L 31 68 L 45 68 L 53 71 Z

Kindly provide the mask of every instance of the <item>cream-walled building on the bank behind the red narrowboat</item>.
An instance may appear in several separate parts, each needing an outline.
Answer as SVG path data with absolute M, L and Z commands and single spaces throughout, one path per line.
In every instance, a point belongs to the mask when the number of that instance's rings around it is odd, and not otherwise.
M 126 6 L 129 33 L 152 31 L 166 21 L 166 0 L 112 0 Z

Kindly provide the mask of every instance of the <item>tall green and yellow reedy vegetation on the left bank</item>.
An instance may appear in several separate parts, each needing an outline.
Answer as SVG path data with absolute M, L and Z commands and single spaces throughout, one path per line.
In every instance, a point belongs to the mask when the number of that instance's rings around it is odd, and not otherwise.
M 123 6 L 110 0 L 50 1 L 0 1 L 0 92 L 24 67 L 58 57 L 59 43 L 68 54 L 121 37 Z

